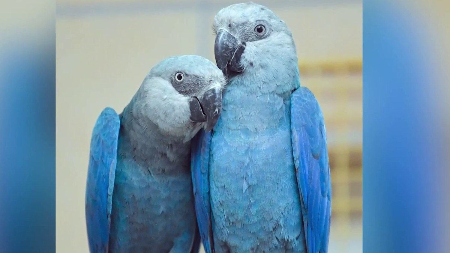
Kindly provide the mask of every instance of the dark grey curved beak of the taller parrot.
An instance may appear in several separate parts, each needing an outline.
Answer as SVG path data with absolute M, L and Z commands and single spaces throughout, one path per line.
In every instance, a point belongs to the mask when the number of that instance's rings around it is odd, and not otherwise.
M 231 35 L 228 31 L 220 29 L 214 42 L 214 56 L 217 67 L 225 76 L 242 72 L 244 69 L 240 64 L 245 45 Z

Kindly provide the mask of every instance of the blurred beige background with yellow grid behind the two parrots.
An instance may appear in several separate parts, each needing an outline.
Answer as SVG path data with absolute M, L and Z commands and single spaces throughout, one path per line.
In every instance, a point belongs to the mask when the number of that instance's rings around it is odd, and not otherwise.
M 302 85 L 327 124 L 333 182 L 330 253 L 362 252 L 362 1 L 255 1 L 293 31 Z M 90 135 L 121 112 L 163 58 L 214 62 L 211 24 L 229 0 L 57 0 L 56 251 L 88 252 L 84 193 Z

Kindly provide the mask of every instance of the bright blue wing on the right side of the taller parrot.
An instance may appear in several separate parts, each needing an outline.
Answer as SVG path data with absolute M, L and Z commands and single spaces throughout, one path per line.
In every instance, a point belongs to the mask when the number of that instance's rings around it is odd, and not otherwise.
M 294 163 L 309 253 L 326 253 L 330 232 L 331 180 L 324 116 L 306 87 L 291 97 Z

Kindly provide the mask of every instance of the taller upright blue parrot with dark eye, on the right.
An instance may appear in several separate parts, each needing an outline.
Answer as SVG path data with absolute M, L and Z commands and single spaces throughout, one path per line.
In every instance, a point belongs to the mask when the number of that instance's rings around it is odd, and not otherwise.
M 326 253 L 324 117 L 313 93 L 300 87 L 291 31 L 251 2 L 220 10 L 213 29 L 228 84 L 219 120 L 194 138 L 191 158 L 206 252 Z

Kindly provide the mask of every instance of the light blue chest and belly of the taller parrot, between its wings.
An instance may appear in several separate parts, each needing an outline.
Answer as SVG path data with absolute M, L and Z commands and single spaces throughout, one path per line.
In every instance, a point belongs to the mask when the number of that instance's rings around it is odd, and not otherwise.
M 211 140 L 210 187 L 217 247 L 303 250 L 289 99 L 229 86 Z

